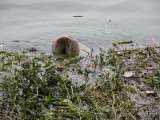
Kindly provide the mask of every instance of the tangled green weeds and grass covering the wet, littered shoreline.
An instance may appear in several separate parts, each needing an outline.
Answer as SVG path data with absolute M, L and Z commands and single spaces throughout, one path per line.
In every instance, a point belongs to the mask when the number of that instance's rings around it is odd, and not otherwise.
M 100 49 L 59 62 L 52 55 L 1 52 L 0 118 L 158 120 L 159 50 Z

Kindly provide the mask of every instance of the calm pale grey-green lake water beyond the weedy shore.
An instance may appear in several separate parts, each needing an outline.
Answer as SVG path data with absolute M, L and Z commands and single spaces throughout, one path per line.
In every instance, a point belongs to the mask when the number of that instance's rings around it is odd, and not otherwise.
M 95 53 L 97 44 L 112 47 L 113 33 L 140 45 L 152 37 L 160 42 L 159 6 L 160 0 L 1 0 L 0 42 L 7 51 L 34 46 L 47 54 L 52 53 L 50 40 L 61 34 L 77 38 Z

